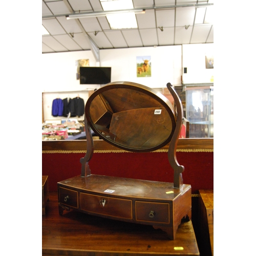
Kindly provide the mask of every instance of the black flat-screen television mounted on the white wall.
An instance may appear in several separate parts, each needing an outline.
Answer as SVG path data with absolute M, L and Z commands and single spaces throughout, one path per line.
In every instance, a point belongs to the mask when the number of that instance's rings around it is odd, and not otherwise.
M 110 81 L 110 67 L 80 67 L 80 84 L 106 84 Z

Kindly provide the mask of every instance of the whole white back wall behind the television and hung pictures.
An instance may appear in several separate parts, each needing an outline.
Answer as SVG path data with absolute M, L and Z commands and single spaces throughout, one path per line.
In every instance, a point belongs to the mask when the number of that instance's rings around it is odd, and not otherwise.
M 112 68 L 112 82 L 131 81 L 160 89 L 166 88 L 167 82 L 180 86 L 183 76 L 183 83 L 209 83 L 214 69 L 205 68 L 206 53 L 213 54 L 213 44 L 105 49 L 100 50 L 100 66 Z M 151 77 L 137 77 L 137 56 L 151 56 Z M 86 102 L 88 90 L 100 87 L 99 84 L 80 84 L 76 79 L 78 59 L 89 59 L 90 67 L 99 66 L 91 51 L 42 54 L 45 120 L 60 119 L 51 116 L 52 101 L 56 97 L 73 98 L 79 94 Z M 187 68 L 187 74 L 183 74 L 183 67 Z

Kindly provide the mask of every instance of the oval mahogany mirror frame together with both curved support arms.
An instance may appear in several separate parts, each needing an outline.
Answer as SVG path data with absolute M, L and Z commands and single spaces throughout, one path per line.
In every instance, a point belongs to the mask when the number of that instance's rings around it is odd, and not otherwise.
M 168 138 L 165 141 L 159 143 L 158 145 L 149 147 L 149 148 L 131 148 L 131 147 L 127 148 L 126 146 L 117 144 L 114 141 L 112 141 L 104 136 L 101 136 L 101 138 L 103 140 L 105 140 L 106 142 L 113 144 L 116 147 L 122 148 L 123 150 L 132 151 L 132 152 L 155 151 L 155 150 L 158 150 L 159 148 L 163 147 L 164 145 L 166 145 L 168 142 L 170 142 L 169 149 L 168 149 L 168 160 L 169 160 L 170 165 L 174 169 L 174 187 L 180 188 L 183 185 L 182 172 L 184 171 L 184 166 L 179 165 L 177 158 L 176 158 L 176 147 L 177 147 L 177 143 L 178 143 L 178 139 L 179 139 L 179 135 L 180 135 L 180 131 L 181 131 L 181 126 L 182 126 L 182 122 L 183 122 L 183 109 L 182 109 L 181 101 L 180 101 L 177 93 L 175 92 L 175 90 L 172 88 L 172 85 L 170 83 L 167 83 L 166 86 L 167 86 L 170 94 L 172 94 L 172 96 L 174 97 L 176 110 L 175 110 L 174 106 L 169 102 L 169 100 L 167 98 L 165 98 L 162 94 L 156 92 L 155 90 L 153 90 L 151 88 L 142 86 L 141 84 L 134 83 L 134 82 L 121 81 L 121 82 L 108 83 L 105 86 L 101 87 L 100 89 L 96 90 L 89 97 L 89 99 L 86 103 L 86 106 L 85 106 L 85 114 L 84 114 L 84 126 L 85 126 L 85 130 L 86 130 L 86 134 L 87 134 L 87 153 L 83 158 L 80 159 L 80 163 L 82 164 L 82 167 L 81 167 L 81 176 L 82 177 L 91 175 L 89 161 L 92 158 L 94 147 L 93 147 L 93 138 L 92 138 L 90 127 L 96 134 L 101 135 L 99 133 L 99 131 L 96 129 L 96 127 L 94 127 L 94 123 L 90 116 L 91 102 L 97 95 L 101 94 L 102 92 L 104 92 L 106 90 L 112 90 L 112 89 L 116 89 L 116 88 L 125 88 L 125 89 L 137 90 L 139 92 L 145 93 L 145 94 L 153 97 L 154 99 L 158 100 L 161 103 L 161 105 L 164 106 L 164 108 L 167 110 L 167 112 L 170 115 L 170 118 L 172 118 L 172 121 L 173 121 L 173 118 L 176 119 L 175 124 L 173 123 L 172 132 L 170 133 L 170 135 L 168 136 Z

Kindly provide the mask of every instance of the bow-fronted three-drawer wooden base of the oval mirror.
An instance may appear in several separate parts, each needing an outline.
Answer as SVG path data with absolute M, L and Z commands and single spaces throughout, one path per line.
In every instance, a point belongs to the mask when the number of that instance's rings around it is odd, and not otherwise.
M 57 183 L 59 214 L 77 210 L 119 221 L 152 225 L 175 240 L 183 218 L 191 219 L 191 186 L 103 175 Z M 86 216 L 85 216 L 86 218 Z

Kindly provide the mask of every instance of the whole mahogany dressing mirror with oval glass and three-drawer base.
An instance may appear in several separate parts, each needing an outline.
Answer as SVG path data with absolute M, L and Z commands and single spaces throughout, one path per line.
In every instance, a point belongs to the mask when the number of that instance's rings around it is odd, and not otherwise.
M 81 175 L 57 184 L 60 215 L 65 209 L 73 209 L 152 225 L 164 230 L 169 239 L 175 239 L 182 219 L 191 219 L 191 185 L 183 184 L 184 166 L 176 159 L 182 104 L 170 83 L 167 88 L 175 107 L 162 94 L 133 82 L 108 83 L 89 97 L 84 115 L 87 153 L 80 159 Z M 169 143 L 166 157 L 174 170 L 174 182 L 93 174 L 89 167 L 94 148 L 91 129 L 106 142 L 129 152 L 152 152 Z M 156 171 L 165 172 L 147 170 Z

